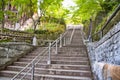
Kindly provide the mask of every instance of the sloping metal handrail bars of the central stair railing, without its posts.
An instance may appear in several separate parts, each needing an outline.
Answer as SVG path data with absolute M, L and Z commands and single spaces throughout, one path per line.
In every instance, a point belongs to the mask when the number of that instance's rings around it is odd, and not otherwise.
M 60 36 L 61 38 L 64 38 L 65 37 L 65 35 L 66 35 L 66 33 L 67 33 L 67 31 L 65 32 L 65 33 L 63 33 L 62 34 L 62 36 Z M 49 52 L 50 50 L 48 50 L 49 48 L 51 48 L 51 47 L 53 47 L 53 46 L 55 46 L 55 43 L 57 44 L 57 43 L 59 43 L 60 42 L 60 37 L 59 38 L 57 38 L 55 41 L 53 41 L 52 43 L 51 43 L 51 45 L 49 45 L 48 47 L 46 47 L 40 54 L 38 54 L 30 63 L 28 63 L 20 72 L 18 72 L 11 80 L 15 80 L 25 69 L 27 69 L 30 65 L 32 65 L 32 67 L 31 67 L 31 69 L 29 69 L 23 76 L 22 76 L 22 78 L 21 79 L 23 79 L 31 70 L 33 70 L 33 74 L 31 74 L 31 80 L 33 80 L 34 79 L 34 66 L 44 57 L 42 57 L 42 58 L 40 58 L 40 59 L 37 59 L 37 58 L 39 58 L 39 56 L 41 56 L 41 55 L 45 55 L 47 52 Z M 56 45 L 57 46 L 57 45 Z M 48 57 L 50 57 L 50 53 L 49 53 L 49 56 Z M 35 60 L 37 60 L 37 62 L 35 62 Z

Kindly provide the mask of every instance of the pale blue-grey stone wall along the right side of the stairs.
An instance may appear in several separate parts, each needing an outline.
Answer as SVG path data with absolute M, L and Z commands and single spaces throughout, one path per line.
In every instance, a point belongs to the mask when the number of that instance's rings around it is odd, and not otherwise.
M 103 77 L 102 68 L 105 63 L 120 65 L 120 22 L 100 41 L 88 42 L 87 48 L 96 80 L 103 80 L 100 77 Z

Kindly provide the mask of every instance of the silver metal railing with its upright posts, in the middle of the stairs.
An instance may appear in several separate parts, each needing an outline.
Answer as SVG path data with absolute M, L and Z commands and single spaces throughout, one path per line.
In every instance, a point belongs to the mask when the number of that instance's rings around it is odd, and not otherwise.
M 52 49 L 55 49 L 55 54 L 58 54 L 58 44 L 59 47 L 62 47 L 64 43 L 65 45 L 65 35 L 67 34 L 67 31 L 60 35 L 59 38 L 57 38 L 52 43 L 49 43 L 49 46 L 46 47 L 41 53 L 39 53 L 30 63 L 28 63 L 20 72 L 18 72 L 11 80 L 16 80 L 18 77 L 20 80 L 24 79 L 26 75 L 31 76 L 31 80 L 34 80 L 35 75 L 35 66 L 47 55 L 48 53 L 48 60 L 47 64 L 51 64 L 51 51 Z M 65 41 L 65 42 L 63 42 Z M 40 57 L 42 55 L 42 57 Z M 39 58 L 40 57 L 40 58 Z M 25 71 L 27 69 L 27 71 Z

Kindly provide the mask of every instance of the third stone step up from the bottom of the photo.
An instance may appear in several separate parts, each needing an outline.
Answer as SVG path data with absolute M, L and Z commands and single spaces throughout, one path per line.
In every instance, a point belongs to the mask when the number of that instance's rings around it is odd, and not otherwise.
M 14 62 L 14 66 L 21 66 L 25 67 L 28 63 L 27 62 Z M 55 69 L 75 69 L 75 70 L 90 70 L 89 65 L 70 65 L 70 64 L 44 64 L 38 63 L 36 65 L 38 68 L 55 68 Z

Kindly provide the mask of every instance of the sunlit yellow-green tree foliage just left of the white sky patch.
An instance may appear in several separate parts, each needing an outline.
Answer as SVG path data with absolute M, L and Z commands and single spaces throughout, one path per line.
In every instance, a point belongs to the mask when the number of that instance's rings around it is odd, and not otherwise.
M 43 0 L 40 4 L 40 9 L 43 14 L 43 18 L 49 22 L 58 22 L 58 24 L 65 24 L 64 17 L 67 10 L 62 7 L 63 0 Z

